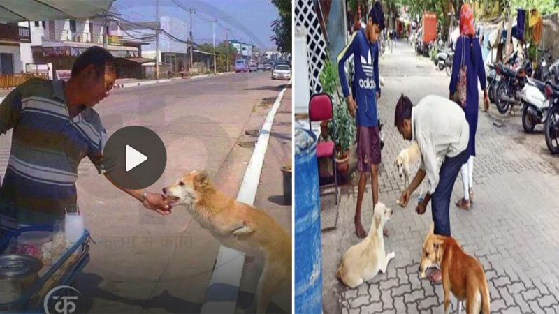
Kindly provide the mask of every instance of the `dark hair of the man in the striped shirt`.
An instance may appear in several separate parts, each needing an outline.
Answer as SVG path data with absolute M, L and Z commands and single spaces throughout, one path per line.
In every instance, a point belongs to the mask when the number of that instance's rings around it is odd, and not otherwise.
M 80 72 L 89 64 L 93 64 L 95 67 L 95 75 L 99 77 L 101 74 L 105 73 L 106 70 L 113 71 L 118 77 L 117 63 L 115 57 L 108 52 L 108 50 L 103 49 L 99 46 L 93 46 L 87 48 L 85 52 L 78 56 L 72 66 L 72 73 L 70 77 L 76 77 Z

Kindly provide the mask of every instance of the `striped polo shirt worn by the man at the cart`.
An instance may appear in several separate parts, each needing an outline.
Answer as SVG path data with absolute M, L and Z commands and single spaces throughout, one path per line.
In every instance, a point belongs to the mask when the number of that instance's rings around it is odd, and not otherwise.
M 0 131 L 13 129 L 0 188 L 0 224 L 49 225 L 76 204 L 78 165 L 87 156 L 103 173 L 106 130 L 90 107 L 71 119 L 64 81 L 31 79 L 0 104 Z

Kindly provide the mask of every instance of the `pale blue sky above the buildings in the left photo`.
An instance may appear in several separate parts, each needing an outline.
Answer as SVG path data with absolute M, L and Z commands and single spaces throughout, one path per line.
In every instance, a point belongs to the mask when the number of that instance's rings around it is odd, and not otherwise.
M 224 27 L 230 29 L 228 38 L 252 43 L 268 50 L 276 48 L 270 39 L 271 23 L 279 17 L 277 8 L 270 0 L 175 0 L 184 8 L 194 8 L 205 20 L 217 19 L 215 42 L 225 40 Z M 132 21 L 154 21 L 156 0 L 115 0 L 112 4 L 124 18 Z M 189 12 L 177 6 L 172 0 L 159 0 L 159 15 L 177 17 L 189 25 Z M 212 43 L 212 23 L 204 22 L 192 15 L 194 42 Z M 173 33 L 174 34 L 174 33 Z M 187 39 L 188 34 L 180 39 Z M 177 36 L 178 37 L 178 36 Z

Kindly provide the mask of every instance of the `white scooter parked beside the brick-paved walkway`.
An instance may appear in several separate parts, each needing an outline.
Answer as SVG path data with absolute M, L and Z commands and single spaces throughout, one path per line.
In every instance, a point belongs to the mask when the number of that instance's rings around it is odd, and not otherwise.
M 532 133 L 537 124 L 544 124 L 549 108 L 545 96 L 545 83 L 528 78 L 521 91 L 522 127 L 526 133 Z

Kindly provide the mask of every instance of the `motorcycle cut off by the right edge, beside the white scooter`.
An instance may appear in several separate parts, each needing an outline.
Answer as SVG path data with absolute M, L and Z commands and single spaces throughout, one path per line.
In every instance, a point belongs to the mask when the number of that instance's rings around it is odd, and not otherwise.
M 549 110 L 544 124 L 547 149 L 551 154 L 559 153 L 559 85 L 547 81 L 546 97 L 549 98 Z

